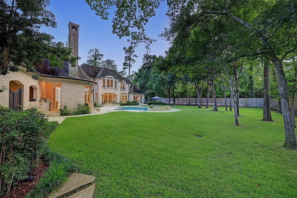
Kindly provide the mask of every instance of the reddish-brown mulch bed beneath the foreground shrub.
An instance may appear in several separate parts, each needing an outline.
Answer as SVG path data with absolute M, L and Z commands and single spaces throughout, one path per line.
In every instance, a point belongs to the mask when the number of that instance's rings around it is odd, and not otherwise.
M 44 161 L 41 161 L 38 166 L 37 175 L 30 181 L 21 181 L 16 186 L 13 186 L 11 189 L 10 197 L 12 198 L 22 198 L 26 197 L 26 195 L 37 185 L 43 172 L 48 169 L 48 164 Z M 15 190 L 14 190 L 15 189 Z

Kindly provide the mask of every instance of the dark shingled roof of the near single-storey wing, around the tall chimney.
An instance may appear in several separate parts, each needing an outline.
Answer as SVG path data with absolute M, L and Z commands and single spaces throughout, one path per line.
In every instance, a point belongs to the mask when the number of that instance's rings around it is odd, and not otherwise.
M 59 68 L 59 67 L 51 68 L 50 61 L 47 59 L 44 59 L 42 63 L 39 63 L 35 67 L 35 70 L 44 77 L 67 78 L 67 79 L 93 82 L 91 78 L 80 67 L 78 67 L 78 77 L 69 76 L 68 65 L 69 65 L 68 62 L 63 62 L 63 65 L 61 65 L 62 68 Z

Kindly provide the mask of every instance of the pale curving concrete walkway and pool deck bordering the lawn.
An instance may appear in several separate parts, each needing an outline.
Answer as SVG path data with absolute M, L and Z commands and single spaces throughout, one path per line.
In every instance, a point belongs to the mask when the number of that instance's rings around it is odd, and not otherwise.
M 92 114 L 83 114 L 83 115 L 74 115 L 74 116 L 57 116 L 57 117 L 48 117 L 49 121 L 58 121 L 59 123 L 63 122 L 65 118 L 67 117 L 79 117 L 79 116 L 89 116 L 89 115 L 98 115 L 98 114 L 106 114 L 109 112 L 114 112 L 114 111 L 132 111 L 132 112 L 147 112 L 147 113 L 165 113 L 165 112 L 175 112 L 175 111 L 181 111 L 180 109 L 175 109 L 172 108 L 171 110 L 167 111 L 140 111 L 140 110 L 116 110 L 119 106 L 104 106 L 100 108 L 100 111 L 97 113 L 92 113 Z M 131 107 L 137 107 L 137 106 L 131 106 Z

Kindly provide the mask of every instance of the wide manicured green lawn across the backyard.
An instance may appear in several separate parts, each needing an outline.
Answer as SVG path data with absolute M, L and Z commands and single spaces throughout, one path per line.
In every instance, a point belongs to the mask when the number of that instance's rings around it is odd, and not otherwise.
M 282 115 L 241 108 L 237 127 L 223 107 L 175 107 L 67 118 L 48 143 L 97 177 L 94 197 L 297 197 Z

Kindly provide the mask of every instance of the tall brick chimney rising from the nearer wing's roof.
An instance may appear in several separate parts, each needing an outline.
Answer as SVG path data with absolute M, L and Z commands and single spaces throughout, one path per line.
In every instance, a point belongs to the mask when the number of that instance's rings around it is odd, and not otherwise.
M 68 23 L 69 28 L 69 45 L 72 48 L 72 56 L 78 56 L 78 29 L 79 25 L 72 23 L 69 21 Z M 71 67 L 71 65 L 68 66 L 69 69 L 69 75 L 70 76 L 78 76 L 78 60 L 76 61 L 76 66 Z

